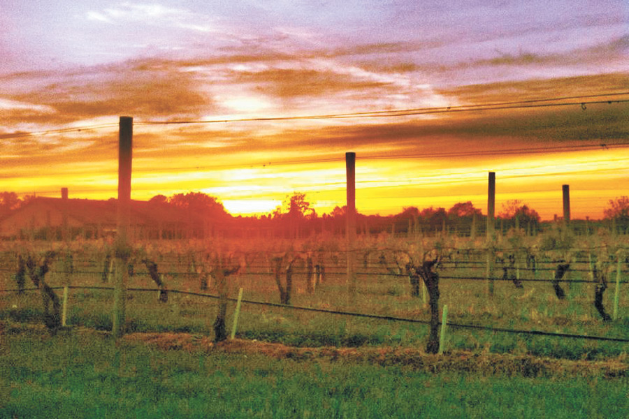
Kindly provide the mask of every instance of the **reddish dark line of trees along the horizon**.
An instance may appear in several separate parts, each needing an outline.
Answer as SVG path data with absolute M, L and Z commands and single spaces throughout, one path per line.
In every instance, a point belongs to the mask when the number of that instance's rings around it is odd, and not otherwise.
M 15 192 L 0 192 L 0 218 L 27 205 L 34 196 L 20 198 Z M 213 222 L 227 223 L 235 228 L 268 228 L 286 230 L 287 235 L 310 235 L 324 231 L 344 233 L 346 223 L 345 206 L 337 206 L 329 213 L 317 214 L 305 193 L 295 192 L 286 196 L 282 205 L 269 214 L 254 216 L 232 216 L 220 200 L 201 192 L 177 193 L 167 197 L 157 195 L 148 203 L 156 207 L 167 206 L 181 210 L 183 214 L 194 214 Z M 613 221 L 616 228 L 626 233 L 629 228 L 629 198 L 621 196 L 609 200 L 604 211 L 604 220 Z M 444 207 L 404 207 L 398 214 L 381 216 L 366 215 L 358 211 L 356 221 L 359 231 L 364 233 L 432 233 L 444 231 L 470 235 L 482 232 L 486 215 L 470 201 L 456 203 L 449 209 Z M 540 214 L 521 200 L 508 200 L 496 216 L 496 226 L 503 230 L 522 228 L 530 233 L 541 229 Z

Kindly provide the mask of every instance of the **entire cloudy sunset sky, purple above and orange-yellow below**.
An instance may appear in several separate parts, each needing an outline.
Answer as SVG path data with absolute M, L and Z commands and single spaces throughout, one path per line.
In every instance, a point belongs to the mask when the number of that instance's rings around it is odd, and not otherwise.
M 629 195 L 626 0 L 0 0 L 0 58 L 0 191 L 115 197 L 126 115 L 133 199 L 330 212 L 348 151 L 364 214 Z

